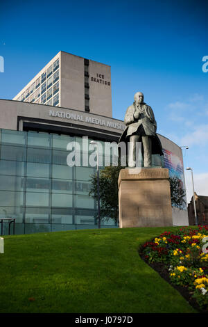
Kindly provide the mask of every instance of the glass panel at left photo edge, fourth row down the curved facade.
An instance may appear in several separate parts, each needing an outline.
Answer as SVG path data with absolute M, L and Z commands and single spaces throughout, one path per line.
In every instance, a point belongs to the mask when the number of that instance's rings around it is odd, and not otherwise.
M 24 177 L 0 175 L 0 190 L 24 191 Z

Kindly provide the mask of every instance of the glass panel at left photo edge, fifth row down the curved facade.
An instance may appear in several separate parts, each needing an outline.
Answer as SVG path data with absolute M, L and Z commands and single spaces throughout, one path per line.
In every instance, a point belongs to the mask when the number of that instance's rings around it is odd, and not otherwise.
M 1 207 L 21 207 L 23 199 L 24 192 L 0 191 Z

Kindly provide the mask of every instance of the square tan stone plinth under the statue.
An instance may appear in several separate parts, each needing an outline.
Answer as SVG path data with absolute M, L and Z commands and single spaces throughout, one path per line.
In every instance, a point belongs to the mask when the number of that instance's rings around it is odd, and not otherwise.
M 119 174 L 120 228 L 173 226 L 168 169 L 132 172 L 125 168 Z

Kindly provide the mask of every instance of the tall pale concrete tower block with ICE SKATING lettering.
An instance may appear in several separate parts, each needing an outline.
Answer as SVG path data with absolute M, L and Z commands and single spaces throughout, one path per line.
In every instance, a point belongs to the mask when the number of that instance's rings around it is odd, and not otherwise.
M 13 100 L 112 117 L 110 66 L 60 51 Z

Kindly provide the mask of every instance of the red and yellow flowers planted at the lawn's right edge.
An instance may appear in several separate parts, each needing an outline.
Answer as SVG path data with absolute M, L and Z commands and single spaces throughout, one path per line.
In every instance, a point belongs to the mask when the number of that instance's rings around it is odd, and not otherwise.
M 164 232 L 141 248 L 144 260 L 162 264 L 171 283 L 188 290 L 203 311 L 208 311 L 207 243 L 208 227 L 198 226 Z

